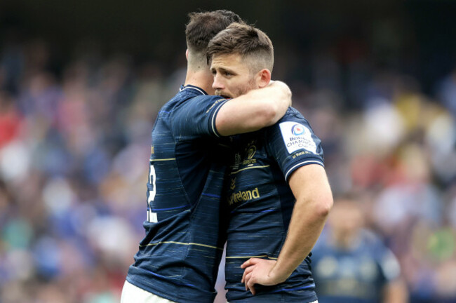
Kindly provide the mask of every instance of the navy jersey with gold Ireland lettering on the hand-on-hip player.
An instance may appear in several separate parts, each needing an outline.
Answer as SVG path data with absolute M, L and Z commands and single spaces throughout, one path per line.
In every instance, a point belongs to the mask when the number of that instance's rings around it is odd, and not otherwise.
M 239 150 L 227 177 L 229 206 L 225 279 L 231 302 L 312 302 L 316 300 L 307 257 L 286 282 L 255 285 L 253 296 L 241 283 L 241 264 L 250 257 L 276 260 L 285 242 L 295 196 L 288 178 L 301 166 L 323 166 L 321 142 L 304 117 L 289 108 L 274 126 L 236 136 Z

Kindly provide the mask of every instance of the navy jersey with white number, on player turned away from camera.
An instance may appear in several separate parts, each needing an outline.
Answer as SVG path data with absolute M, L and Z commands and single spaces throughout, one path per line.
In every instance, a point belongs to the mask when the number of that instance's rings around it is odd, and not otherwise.
M 227 159 L 215 116 L 224 102 L 201 88 L 182 87 L 163 105 L 152 130 L 146 235 L 127 280 L 175 302 L 215 297 Z

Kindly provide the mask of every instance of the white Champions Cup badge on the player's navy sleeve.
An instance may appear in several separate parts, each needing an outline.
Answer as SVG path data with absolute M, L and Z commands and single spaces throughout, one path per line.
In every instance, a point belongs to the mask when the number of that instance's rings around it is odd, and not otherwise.
M 316 154 L 316 144 L 309 128 L 293 121 L 282 122 L 279 126 L 289 154 L 299 149 L 305 149 Z

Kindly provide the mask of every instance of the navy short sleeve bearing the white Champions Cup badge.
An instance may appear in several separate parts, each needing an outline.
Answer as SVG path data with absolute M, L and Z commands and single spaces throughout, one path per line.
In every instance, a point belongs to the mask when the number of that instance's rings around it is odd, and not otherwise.
M 287 181 L 301 166 L 324 166 L 321 140 L 296 109 L 288 109 L 279 122 L 269 127 L 267 142 L 269 153 L 276 159 Z

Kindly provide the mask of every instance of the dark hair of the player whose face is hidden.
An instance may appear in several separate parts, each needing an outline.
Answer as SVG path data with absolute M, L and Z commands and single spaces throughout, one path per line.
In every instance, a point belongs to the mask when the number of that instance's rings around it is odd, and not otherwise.
M 206 51 L 210 39 L 233 22 L 243 23 L 239 15 L 227 10 L 189 13 L 185 28 L 187 48 L 194 52 Z

